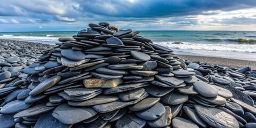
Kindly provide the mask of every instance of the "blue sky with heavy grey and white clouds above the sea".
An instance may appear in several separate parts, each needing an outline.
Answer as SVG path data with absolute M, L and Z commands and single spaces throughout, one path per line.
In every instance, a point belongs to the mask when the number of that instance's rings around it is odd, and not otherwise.
M 0 0 L 0 32 L 109 22 L 134 30 L 256 30 L 255 0 Z

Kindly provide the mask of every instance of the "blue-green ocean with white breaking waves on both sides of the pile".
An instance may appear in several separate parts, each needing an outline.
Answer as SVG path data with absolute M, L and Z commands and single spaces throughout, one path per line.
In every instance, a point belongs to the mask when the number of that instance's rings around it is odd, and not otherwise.
M 54 44 L 77 31 L 0 33 L 0 38 Z M 140 36 L 171 49 L 256 53 L 256 31 L 140 31 Z

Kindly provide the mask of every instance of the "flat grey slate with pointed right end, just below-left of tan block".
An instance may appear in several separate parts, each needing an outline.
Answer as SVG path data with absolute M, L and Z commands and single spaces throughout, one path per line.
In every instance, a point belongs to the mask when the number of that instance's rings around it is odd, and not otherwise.
M 67 93 L 69 95 L 69 97 L 78 97 L 81 95 L 98 92 L 100 90 L 102 90 L 102 89 L 99 89 L 99 88 L 88 89 L 85 87 L 79 87 L 79 88 L 73 88 L 73 89 L 66 89 L 66 90 L 64 90 L 64 92 Z

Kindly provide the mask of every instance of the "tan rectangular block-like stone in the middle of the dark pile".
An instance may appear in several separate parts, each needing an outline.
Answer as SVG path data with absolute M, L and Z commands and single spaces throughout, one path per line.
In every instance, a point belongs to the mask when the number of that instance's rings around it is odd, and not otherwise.
M 99 79 L 99 78 L 89 78 L 83 80 L 84 86 L 88 88 L 101 87 L 101 88 L 111 88 L 116 87 L 123 83 L 122 78 L 118 79 Z

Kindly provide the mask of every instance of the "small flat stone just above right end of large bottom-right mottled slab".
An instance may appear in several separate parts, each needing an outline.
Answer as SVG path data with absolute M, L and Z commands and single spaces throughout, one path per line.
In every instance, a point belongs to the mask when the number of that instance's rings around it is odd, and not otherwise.
M 225 107 L 233 111 L 237 115 L 240 115 L 240 116 L 244 115 L 244 109 L 235 102 L 227 101 L 225 103 Z

